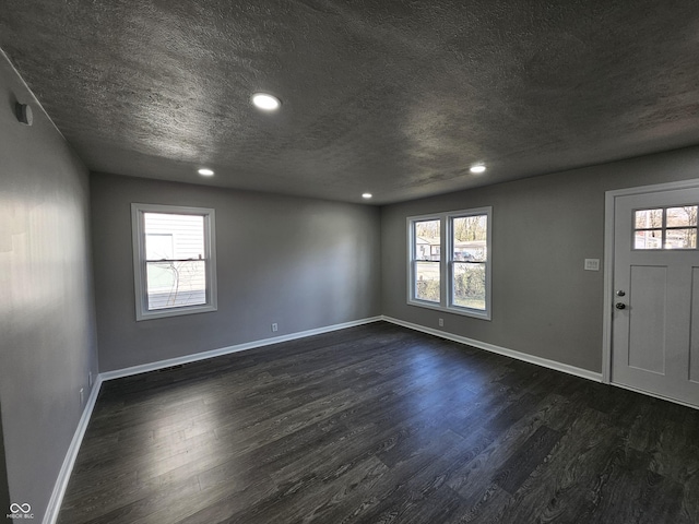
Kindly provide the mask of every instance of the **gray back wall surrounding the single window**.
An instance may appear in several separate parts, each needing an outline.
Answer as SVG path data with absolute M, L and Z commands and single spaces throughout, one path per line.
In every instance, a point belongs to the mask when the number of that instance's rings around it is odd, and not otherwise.
M 102 174 L 91 189 L 100 371 L 380 314 L 377 207 Z M 215 209 L 218 311 L 135 321 L 132 202 Z

